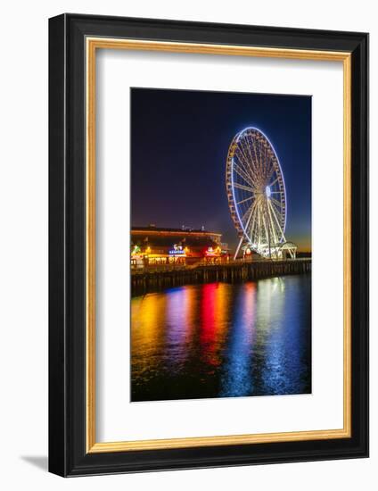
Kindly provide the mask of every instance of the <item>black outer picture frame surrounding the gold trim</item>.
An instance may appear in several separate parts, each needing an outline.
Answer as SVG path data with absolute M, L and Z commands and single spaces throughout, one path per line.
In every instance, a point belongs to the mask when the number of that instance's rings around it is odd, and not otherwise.
M 349 438 L 86 453 L 88 36 L 351 54 Z M 368 35 L 65 13 L 49 21 L 49 470 L 83 476 L 368 456 Z

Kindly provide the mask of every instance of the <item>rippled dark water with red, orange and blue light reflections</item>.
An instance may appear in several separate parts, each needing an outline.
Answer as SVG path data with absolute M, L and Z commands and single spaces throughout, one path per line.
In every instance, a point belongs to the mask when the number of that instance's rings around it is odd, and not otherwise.
M 310 392 L 310 275 L 132 299 L 132 401 Z

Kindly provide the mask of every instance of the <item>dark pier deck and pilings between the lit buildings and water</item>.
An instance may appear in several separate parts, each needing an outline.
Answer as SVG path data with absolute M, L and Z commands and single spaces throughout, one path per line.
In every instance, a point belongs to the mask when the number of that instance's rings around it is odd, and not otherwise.
M 154 268 L 131 271 L 131 295 L 145 295 L 170 287 L 222 281 L 237 283 L 311 272 L 311 259 L 285 261 L 197 264 L 183 268 Z

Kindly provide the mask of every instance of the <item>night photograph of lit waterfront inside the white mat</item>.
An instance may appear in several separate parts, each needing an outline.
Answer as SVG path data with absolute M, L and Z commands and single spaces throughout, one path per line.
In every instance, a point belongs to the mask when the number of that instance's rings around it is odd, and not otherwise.
M 131 402 L 311 394 L 312 97 L 130 106 Z

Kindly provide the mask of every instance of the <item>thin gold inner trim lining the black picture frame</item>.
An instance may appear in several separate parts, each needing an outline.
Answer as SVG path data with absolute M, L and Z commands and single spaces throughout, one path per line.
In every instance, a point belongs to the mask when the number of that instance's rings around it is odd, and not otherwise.
M 221 437 L 184 437 L 97 443 L 95 441 L 95 54 L 97 49 L 221 54 L 343 63 L 344 111 L 344 384 L 343 428 Z M 241 445 L 351 437 L 351 54 L 253 46 L 86 37 L 86 452 L 106 453 L 210 445 Z

